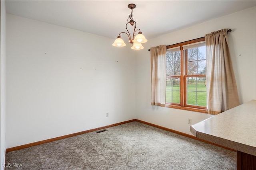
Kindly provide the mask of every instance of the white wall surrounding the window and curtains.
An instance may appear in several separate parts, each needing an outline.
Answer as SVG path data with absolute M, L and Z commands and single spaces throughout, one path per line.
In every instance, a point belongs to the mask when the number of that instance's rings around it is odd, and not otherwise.
M 146 49 L 157 45 L 171 45 L 204 37 L 206 33 L 230 28 L 230 53 L 238 86 L 240 103 L 256 99 L 256 9 L 248 8 L 227 16 L 193 25 L 155 39 L 144 45 Z M 170 19 L 171 22 L 171 19 Z M 156 30 L 157 31 L 157 30 Z M 241 56 L 239 56 L 241 54 Z M 211 115 L 150 106 L 150 52 L 140 51 L 136 57 L 136 119 L 192 135 L 187 119 L 198 123 Z

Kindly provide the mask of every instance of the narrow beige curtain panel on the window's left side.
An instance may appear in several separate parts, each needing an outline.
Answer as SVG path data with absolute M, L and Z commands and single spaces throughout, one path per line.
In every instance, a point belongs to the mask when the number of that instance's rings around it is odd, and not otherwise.
M 151 105 L 165 107 L 166 96 L 166 45 L 150 48 Z

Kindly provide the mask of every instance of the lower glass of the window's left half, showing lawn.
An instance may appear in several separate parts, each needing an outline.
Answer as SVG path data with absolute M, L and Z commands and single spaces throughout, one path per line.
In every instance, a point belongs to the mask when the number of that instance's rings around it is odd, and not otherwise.
M 166 76 L 166 102 L 180 103 L 180 78 Z

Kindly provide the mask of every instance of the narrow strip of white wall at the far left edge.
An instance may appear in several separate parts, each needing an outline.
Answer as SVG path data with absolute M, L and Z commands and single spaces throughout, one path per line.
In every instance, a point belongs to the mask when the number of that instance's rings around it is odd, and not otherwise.
M 6 150 L 6 10 L 1 1 L 1 40 L 0 40 L 0 169 L 4 169 Z

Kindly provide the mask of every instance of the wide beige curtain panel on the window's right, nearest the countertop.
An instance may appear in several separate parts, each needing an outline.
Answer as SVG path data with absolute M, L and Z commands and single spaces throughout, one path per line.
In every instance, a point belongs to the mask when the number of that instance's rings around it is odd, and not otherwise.
M 208 113 L 217 115 L 240 104 L 232 67 L 227 29 L 206 34 Z

